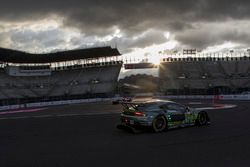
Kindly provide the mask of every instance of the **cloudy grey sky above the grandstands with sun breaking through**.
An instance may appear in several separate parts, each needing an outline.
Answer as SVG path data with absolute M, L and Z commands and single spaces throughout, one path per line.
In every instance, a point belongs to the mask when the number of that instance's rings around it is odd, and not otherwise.
M 0 47 L 49 52 L 111 45 L 123 54 L 249 47 L 246 0 L 4 0 Z

